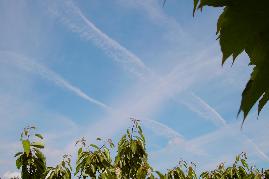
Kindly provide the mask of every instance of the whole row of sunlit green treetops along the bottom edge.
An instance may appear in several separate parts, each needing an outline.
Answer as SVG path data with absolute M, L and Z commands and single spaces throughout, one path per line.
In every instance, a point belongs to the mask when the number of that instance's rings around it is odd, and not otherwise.
M 78 140 L 76 168 L 71 166 L 71 156 L 63 155 L 62 161 L 55 167 L 46 165 L 42 153 L 43 136 L 35 133 L 35 127 L 26 127 L 21 134 L 23 151 L 15 154 L 16 166 L 21 170 L 22 179 L 264 179 L 269 178 L 268 170 L 259 170 L 249 166 L 247 156 L 241 153 L 235 162 L 226 167 L 221 163 L 213 171 L 197 175 L 195 164 L 180 161 L 178 166 L 161 173 L 154 170 L 148 162 L 146 141 L 138 120 L 127 129 L 118 142 L 116 156 L 112 159 L 111 151 L 115 145 L 111 139 L 97 138 L 98 145 L 87 145 L 84 138 Z

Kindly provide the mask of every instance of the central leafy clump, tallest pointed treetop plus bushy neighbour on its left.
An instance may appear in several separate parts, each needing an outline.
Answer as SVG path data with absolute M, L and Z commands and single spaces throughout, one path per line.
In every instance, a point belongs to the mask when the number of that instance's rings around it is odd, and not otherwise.
M 102 141 L 100 138 L 97 140 Z M 110 149 L 114 148 L 114 144 L 110 139 L 105 141 L 101 147 L 95 144 L 85 147 L 84 138 L 78 143 L 82 144 L 82 147 L 78 149 L 75 172 L 75 175 L 79 174 L 79 177 L 127 179 L 145 178 L 151 175 L 151 167 L 147 161 L 145 137 L 137 120 L 133 120 L 133 126 L 131 129 L 127 129 L 126 134 L 119 141 L 114 162 L 110 155 Z

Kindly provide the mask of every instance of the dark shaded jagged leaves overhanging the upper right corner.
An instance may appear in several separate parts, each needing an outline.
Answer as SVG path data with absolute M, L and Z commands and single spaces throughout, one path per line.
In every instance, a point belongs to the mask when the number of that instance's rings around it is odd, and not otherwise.
M 194 0 L 193 13 L 204 6 L 223 7 L 217 22 L 222 64 L 230 56 L 234 62 L 245 51 L 253 66 L 238 112 L 244 113 L 244 122 L 258 100 L 258 115 L 269 100 L 269 1 Z

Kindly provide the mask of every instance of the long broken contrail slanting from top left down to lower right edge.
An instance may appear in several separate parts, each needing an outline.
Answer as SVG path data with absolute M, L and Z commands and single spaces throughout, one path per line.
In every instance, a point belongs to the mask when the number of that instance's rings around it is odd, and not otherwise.
M 122 64 L 125 69 L 127 68 L 136 76 L 143 78 L 147 74 L 154 74 L 140 58 L 120 45 L 116 40 L 110 38 L 107 34 L 96 27 L 94 23 L 87 19 L 86 16 L 72 1 L 65 1 L 63 7 L 64 9 L 61 9 L 61 12 L 55 11 L 54 13 L 56 16 L 60 17 L 63 23 L 66 24 L 73 32 L 78 33 L 85 40 L 91 40 L 94 42 L 96 46 L 103 49 L 108 56 Z M 201 66 L 204 66 L 204 64 L 198 64 L 194 67 L 200 68 Z M 165 84 L 172 84 L 175 82 L 175 80 L 177 80 L 177 78 L 174 76 L 178 74 L 177 68 L 179 67 L 180 65 L 177 65 L 176 68 L 174 68 L 174 70 L 172 70 L 172 72 L 170 72 L 164 78 L 160 78 L 155 74 L 154 77 L 158 81 L 163 81 Z M 197 70 L 195 68 L 193 69 L 194 71 Z M 190 69 L 188 70 L 190 71 Z M 180 74 L 182 73 L 183 72 L 181 71 Z M 214 108 L 212 108 L 198 96 L 194 95 L 193 98 L 196 100 L 196 103 L 199 103 L 202 106 L 204 110 L 203 115 L 208 115 L 207 117 L 210 118 L 210 120 L 212 120 L 212 122 L 215 124 L 218 124 L 220 127 L 227 126 L 226 121 Z M 201 113 L 199 115 L 201 115 Z M 264 152 L 262 152 L 251 139 L 249 139 L 247 136 L 245 137 L 246 140 L 253 145 L 255 151 L 257 151 L 260 155 L 265 156 L 266 159 L 269 159 L 269 157 Z

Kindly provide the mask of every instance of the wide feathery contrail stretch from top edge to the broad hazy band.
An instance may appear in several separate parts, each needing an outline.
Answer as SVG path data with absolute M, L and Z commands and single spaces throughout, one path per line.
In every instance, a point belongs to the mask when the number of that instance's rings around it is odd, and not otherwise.
M 54 2 L 53 5 L 55 9 L 50 8 L 52 14 L 71 31 L 78 33 L 84 40 L 93 42 L 125 69 L 140 78 L 152 73 L 139 57 L 96 27 L 72 1 Z

